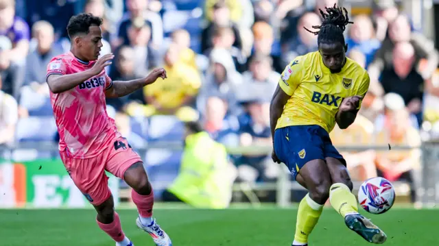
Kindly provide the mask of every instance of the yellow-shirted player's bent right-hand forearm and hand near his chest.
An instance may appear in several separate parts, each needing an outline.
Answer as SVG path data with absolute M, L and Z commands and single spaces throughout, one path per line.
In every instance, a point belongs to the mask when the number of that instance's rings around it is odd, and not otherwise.
M 335 114 L 335 121 L 340 129 L 346 129 L 354 123 L 361 99 L 362 97 L 360 96 L 353 96 L 347 97 L 342 101 L 337 114 Z

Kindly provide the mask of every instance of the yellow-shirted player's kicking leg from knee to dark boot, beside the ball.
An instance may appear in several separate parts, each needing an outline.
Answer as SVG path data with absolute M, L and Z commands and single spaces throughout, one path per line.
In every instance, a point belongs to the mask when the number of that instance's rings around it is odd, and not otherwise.
M 329 200 L 333 208 L 344 217 L 349 229 L 370 243 L 381 244 L 387 239 L 385 233 L 358 212 L 357 198 L 351 192 L 353 184 L 346 163 L 342 158 L 326 158 L 333 184 L 329 189 Z

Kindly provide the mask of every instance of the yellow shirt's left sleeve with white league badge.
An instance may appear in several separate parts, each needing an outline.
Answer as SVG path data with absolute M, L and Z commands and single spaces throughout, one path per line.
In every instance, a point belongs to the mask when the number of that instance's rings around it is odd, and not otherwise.
M 279 79 L 279 86 L 287 95 L 292 96 L 294 90 L 300 84 L 302 80 L 302 62 L 300 60 L 294 60 L 292 63 L 285 67 L 282 72 L 281 79 Z

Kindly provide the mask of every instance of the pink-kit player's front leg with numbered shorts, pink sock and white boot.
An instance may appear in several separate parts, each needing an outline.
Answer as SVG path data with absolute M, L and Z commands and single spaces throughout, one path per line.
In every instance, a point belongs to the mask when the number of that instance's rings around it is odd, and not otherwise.
M 152 218 L 154 191 L 148 180 L 140 156 L 131 149 L 125 138 L 115 140 L 108 157 L 106 170 L 125 180 L 132 188 L 132 201 L 137 206 L 137 226 L 150 234 L 157 246 L 171 246 L 171 239 Z

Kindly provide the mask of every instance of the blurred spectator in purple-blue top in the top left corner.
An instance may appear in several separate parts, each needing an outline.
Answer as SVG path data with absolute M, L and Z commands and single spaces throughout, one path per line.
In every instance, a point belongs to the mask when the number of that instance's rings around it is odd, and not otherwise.
M 29 51 L 29 25 L 15 16 L 14 0 L 0 0 L 0 36 L 12 42 L 12 49 L 4 51 L 2 59 L 23 64 Z

